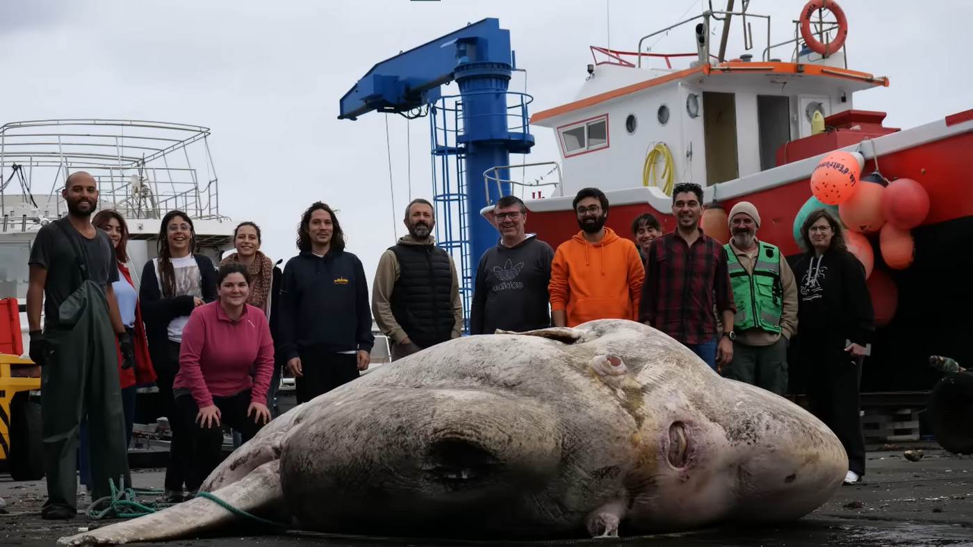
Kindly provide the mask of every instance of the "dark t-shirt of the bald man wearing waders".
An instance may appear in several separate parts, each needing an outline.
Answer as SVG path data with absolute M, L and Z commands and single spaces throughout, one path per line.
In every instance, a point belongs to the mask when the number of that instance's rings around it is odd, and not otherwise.
M 106 232 L 96 229 L 94 238 L 88 239 L 81 235 L 67 219 L 54 222 L 62 222 L 67 233 L 77 241 L 83 255 L 82 259 L 88 265 L 91 281 L 106 289 L 108 284 L 119 280 L 115 247 Z M 72 292 L 81 287 L 82 283 L 81 268 L 78 267 L 74 248 L 54 222 L 37 232 L 28 260 L 31 265 L 38 265 L 48 270 L 48 278 L 44 284 L 45 328 L 57 325 L 58 308 Z

